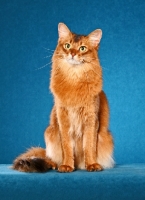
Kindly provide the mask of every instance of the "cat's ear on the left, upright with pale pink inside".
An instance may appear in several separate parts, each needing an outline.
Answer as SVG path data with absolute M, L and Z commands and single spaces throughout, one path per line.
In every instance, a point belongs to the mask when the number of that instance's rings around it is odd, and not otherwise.
M 70 30 L 64 23 L 59 23 L 58 24 L 58 34 L 59 34 L 59 38 L 63 39 L 63 38 L 66 38 L 67 36 L 69 36 Z

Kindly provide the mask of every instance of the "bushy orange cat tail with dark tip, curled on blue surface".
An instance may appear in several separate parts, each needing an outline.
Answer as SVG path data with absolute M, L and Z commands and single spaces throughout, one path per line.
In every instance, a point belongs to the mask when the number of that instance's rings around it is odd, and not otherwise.
M 56 167 L 56 164 L 46 157 L 45 149 L 33 147 L 14 160 L 12 169 L 21 172 L 46 172 Z

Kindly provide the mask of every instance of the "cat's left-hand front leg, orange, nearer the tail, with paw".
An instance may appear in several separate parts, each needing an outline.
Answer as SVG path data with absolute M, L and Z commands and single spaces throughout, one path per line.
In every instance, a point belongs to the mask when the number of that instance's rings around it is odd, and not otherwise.
M 63 163 L 59 166 L 58 171 L 72 172 L 74 170 L 74 152 L 72 138 L 69 133 L 70 122 L 67 109 L 59 107 L 57 109 L 57 117 L 63 150 Z

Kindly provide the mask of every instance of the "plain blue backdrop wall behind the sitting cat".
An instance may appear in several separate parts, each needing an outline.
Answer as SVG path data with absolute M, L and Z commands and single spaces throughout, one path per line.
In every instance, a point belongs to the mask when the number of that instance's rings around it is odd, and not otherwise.
M 53 98 L 50 56 L 57 25 L 101 28 L 99 56 L 116 163 L 145 162 L 145 1 L 0 0 L 0 163 L 44 147 Z M 46 58 L 47 57 L 47 58 Z

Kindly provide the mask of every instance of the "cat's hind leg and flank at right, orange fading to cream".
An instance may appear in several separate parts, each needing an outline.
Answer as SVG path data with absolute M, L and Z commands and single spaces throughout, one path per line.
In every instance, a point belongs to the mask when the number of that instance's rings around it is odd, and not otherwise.
M 108 131 L 109 107 L 105 93 L 100 93 L 99 130 L 97 138 L 97 162 L 105 169 L 114 166 L 113 137 Z

